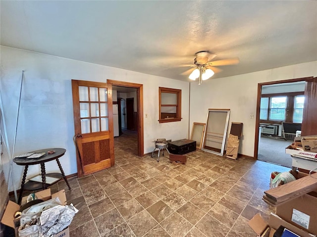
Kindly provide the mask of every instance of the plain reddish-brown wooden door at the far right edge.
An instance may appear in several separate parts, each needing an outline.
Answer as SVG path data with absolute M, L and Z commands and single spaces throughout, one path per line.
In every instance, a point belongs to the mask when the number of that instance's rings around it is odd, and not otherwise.
M 317 134 L 317 78 L 306 80 L 302 136 Z

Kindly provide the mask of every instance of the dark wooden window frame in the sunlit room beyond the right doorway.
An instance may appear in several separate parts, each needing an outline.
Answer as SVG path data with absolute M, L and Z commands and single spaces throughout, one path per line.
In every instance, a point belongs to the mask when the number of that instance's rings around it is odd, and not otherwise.
M 304 95 L 304 91 L 300 92 L 287 92 L 287 93 L 274 93 L 274 94 L 263 94 L 261 95 L 261 98 L 268 98 L 268 108 L 267 108 L 267 120 L 266 119 L 260 119 L 261 123 L 265 122 L 293 122 L 293 114 L 294 114 L 294 101 L 295 101 L 295 96 L 298 95 Z M 270 100 L 271 97 L 278 97 L 278 96 L 286 96 L 287 101 L 286 101 L 286 115 L 285 115 L 285 120 L 269 120 L 269 111 L 270 111 Z

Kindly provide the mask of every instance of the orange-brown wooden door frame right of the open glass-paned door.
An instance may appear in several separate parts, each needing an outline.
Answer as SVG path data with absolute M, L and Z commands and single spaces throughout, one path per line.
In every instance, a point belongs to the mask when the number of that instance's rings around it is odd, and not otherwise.
M 143 84 L 131 83 L 120 80 L 107 79 L 106 83 L 112 86 L 124 86 L 137 89 L 137 111 L 138 111 L 138 156 L 144 156 L 144 128 L 143 128 Z

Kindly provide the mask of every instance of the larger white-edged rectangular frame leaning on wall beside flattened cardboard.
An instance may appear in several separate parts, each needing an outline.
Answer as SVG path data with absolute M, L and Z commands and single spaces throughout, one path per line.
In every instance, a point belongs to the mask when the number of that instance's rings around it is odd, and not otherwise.
M 209 109 L 202 150 L 223 155 L 230 109 Z

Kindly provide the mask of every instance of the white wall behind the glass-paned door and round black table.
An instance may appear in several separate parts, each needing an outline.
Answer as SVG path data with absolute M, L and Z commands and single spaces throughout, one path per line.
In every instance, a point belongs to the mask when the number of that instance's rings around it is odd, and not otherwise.
M 73 144 L 74 122 L 71 79 L 106 82 L 106 79 L 143 84 L 144 153 L 153 151 L 152 141 L 161 137 L 172 140 L 188 138 L 189 83 L 127 70 L 70 60 L 10 47 L 0 47 L 0 92 L 4 107 L 10 149 L 12 150 L 22 70 L 23 80 L 15 155 L 45 148 L 62 147 L 66 154 L 60 162 L 66 175 L 76 173 Z M 159 123 L 159 86 L 182 90 L 182 120 Z M 8 158 L 1 157 L 6 179 Z M 14 164 L 17 188 L 23 166 Z M 55 161 L 46 171 L 58 171 Z M 40 165 L 29 167 L 28 177 L 40 173 Z

